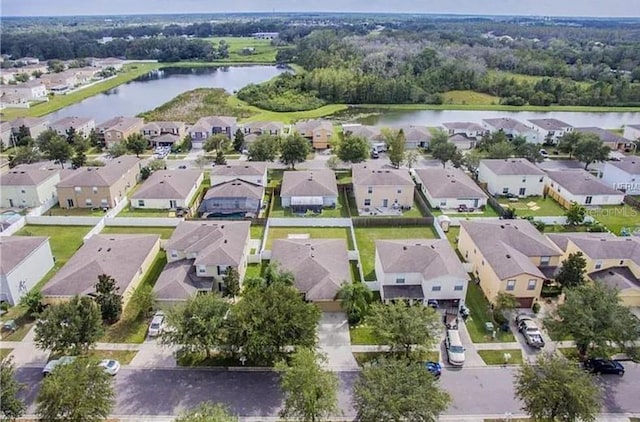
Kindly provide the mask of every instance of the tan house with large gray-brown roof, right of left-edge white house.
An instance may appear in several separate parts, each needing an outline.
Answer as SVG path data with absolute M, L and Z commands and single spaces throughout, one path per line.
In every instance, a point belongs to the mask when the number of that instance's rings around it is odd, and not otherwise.
M 102 274 L 113 277 L 123 306 L 160 251 L 157 234 L 94 234 L 42 288 L 43 302 L 94 295 Z

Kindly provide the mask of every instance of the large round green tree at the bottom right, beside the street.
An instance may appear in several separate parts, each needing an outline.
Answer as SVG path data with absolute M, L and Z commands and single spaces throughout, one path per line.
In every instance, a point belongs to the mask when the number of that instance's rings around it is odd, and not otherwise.
M 602 393 L 593 376 L 565 358 L 540 355 L 535 365 L 525 363 L 514 379 L 515 396 L 536 421 L 595 421 Z

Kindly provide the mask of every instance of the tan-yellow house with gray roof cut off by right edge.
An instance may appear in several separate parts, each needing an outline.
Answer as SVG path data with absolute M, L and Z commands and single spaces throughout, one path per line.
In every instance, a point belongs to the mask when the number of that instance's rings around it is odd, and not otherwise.
M 563 260 L 581 252 L 592 280 L 618 289 L 626 306 L 640 306 L 640 238 L 611 233 L 553 233 L 548 237 L 563 252 Z

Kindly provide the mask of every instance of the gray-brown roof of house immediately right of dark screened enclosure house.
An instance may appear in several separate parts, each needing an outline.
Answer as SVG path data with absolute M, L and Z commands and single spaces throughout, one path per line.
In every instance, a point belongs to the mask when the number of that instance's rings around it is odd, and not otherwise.
M 337 196 L 336 175 L 331 170 L 285 171 L 281 197 Z

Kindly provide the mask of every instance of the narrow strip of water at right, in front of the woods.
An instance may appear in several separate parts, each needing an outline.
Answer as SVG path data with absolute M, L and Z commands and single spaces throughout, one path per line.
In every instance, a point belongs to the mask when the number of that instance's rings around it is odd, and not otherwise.
M 619 129 L 625 124 L 640 124 L 640 112 L 585 113 L 572 111 L 482 111 L 482 110 L 390 110 L 350 107 L 334 118 L 350 123 L 374 126 L 439 126 L 445 122 L 475 122 L 482 119 L 511 117 L 523 123 L 529 119 L 555 118 L 575 127 L 597 126 Z

